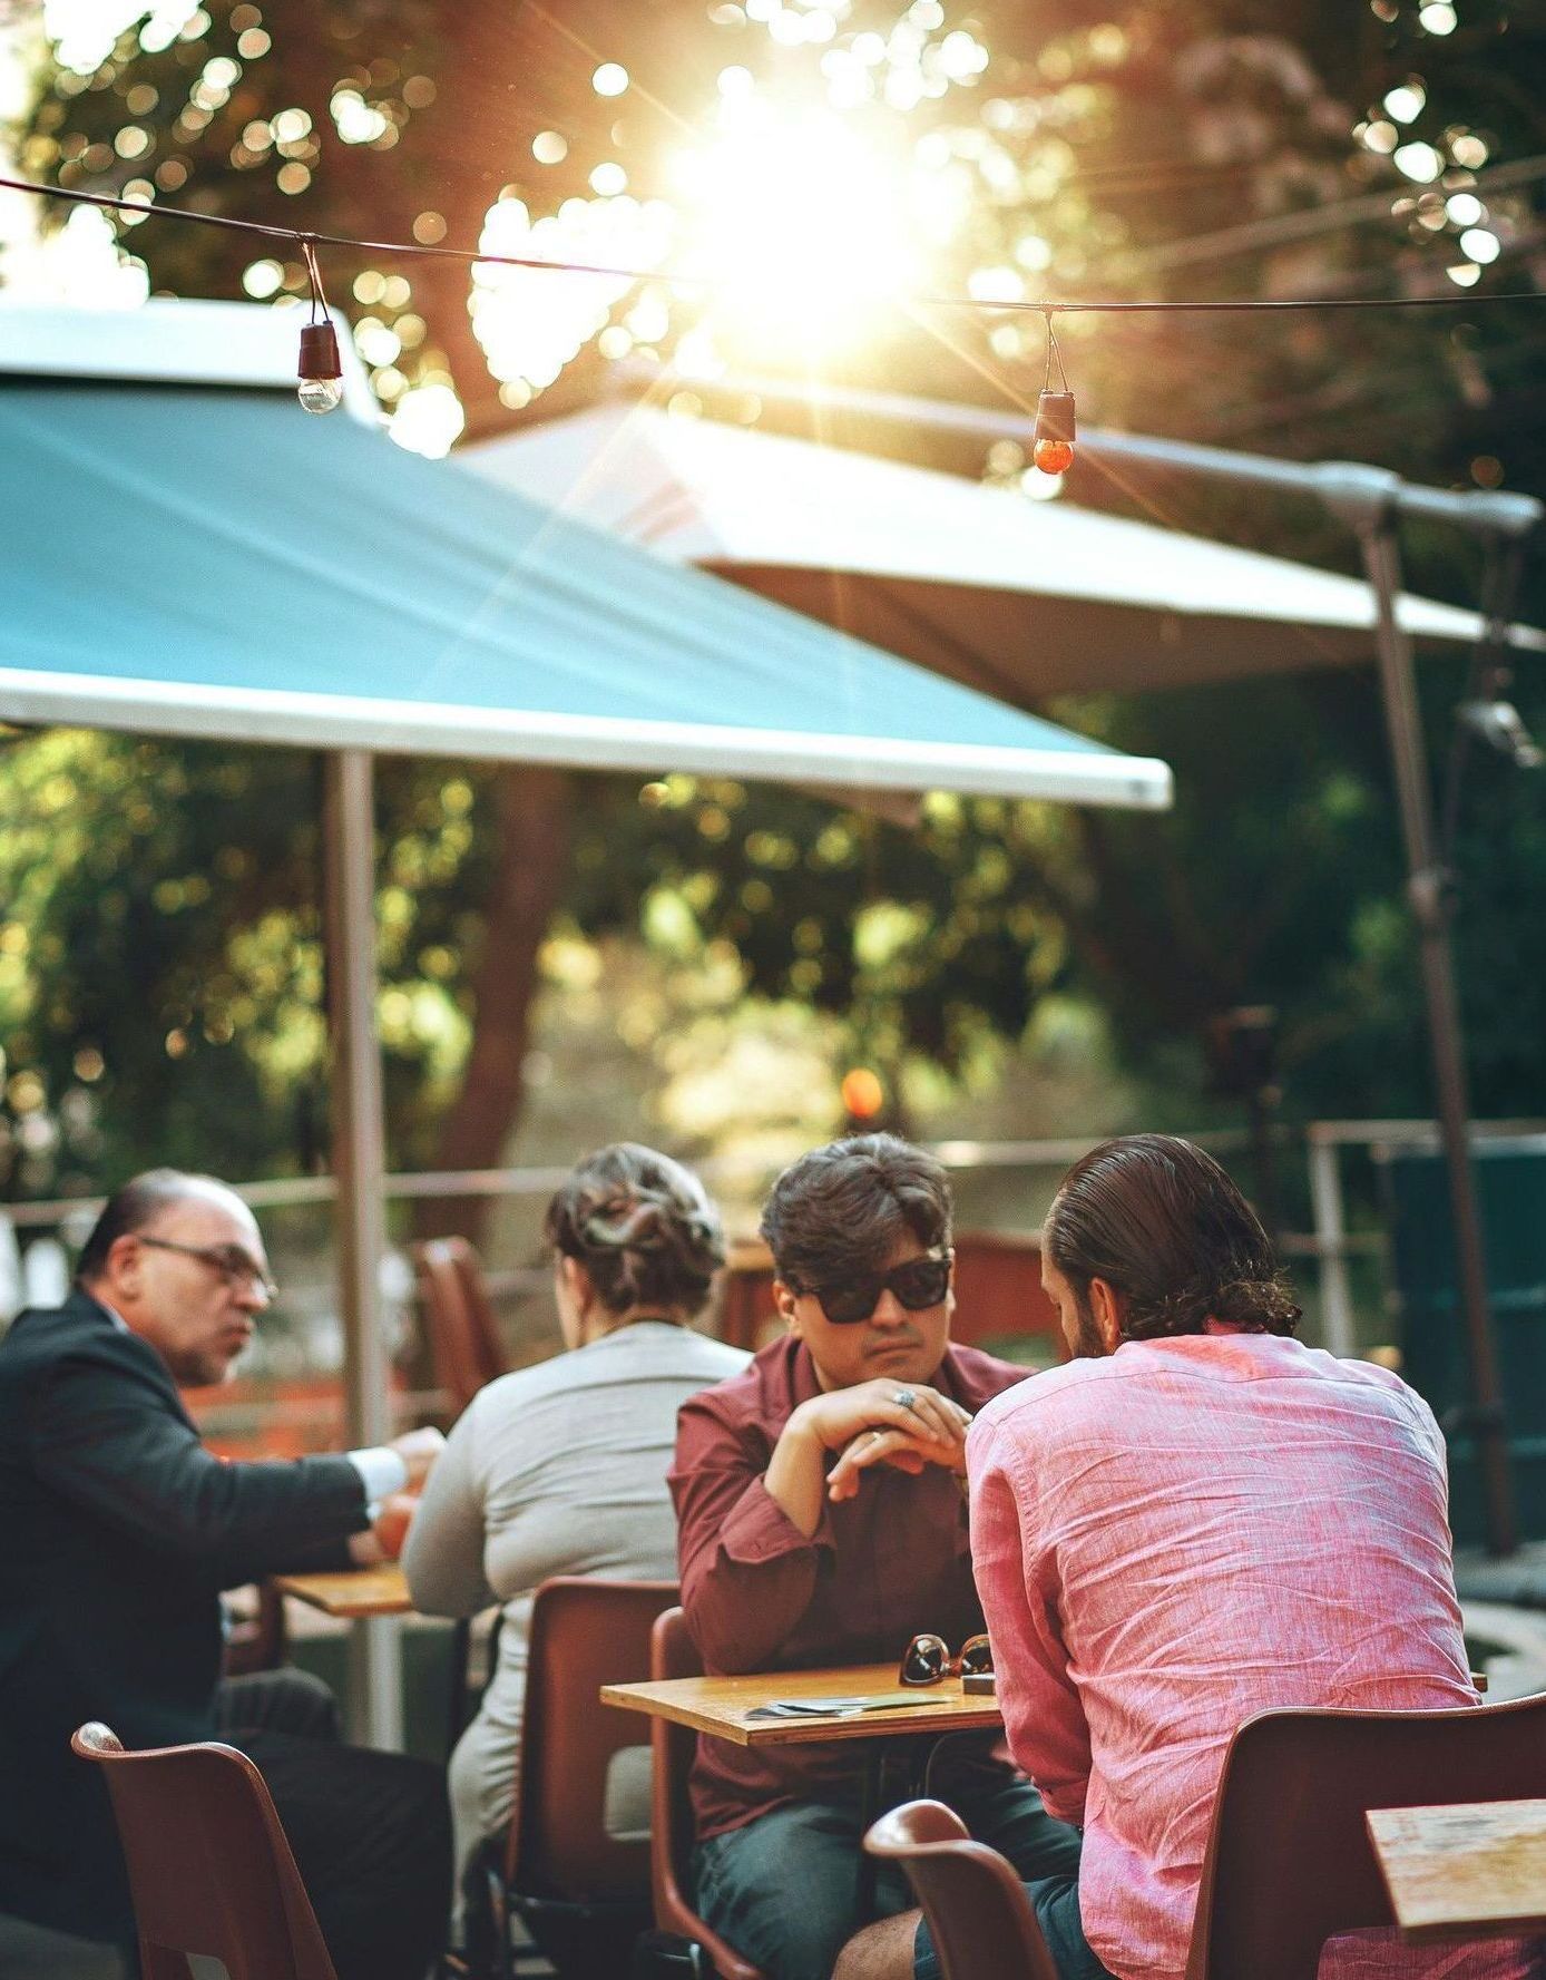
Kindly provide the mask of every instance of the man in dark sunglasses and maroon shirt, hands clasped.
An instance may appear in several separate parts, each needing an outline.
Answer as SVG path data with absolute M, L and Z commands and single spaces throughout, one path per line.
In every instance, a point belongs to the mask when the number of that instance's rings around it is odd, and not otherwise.
M 774 1184 L 762 1236 L 788 1331 L 677 1420 L 689 1628 L 711 1671 L 905 1659 L 930 1681 L 984 1628 L 966 1428 L 1025 1370 L 950 1346 L 950 1186 L 920 1148 L 814 1150 Z M 827 1980 L 861 1923 L 863 1768 L 861 1742 L 699 1740 L 697 1907 L 768 1980 Z M 1077 1835 L 992 1736 L 942 1742 L 928 1786 L 1023 1877 L 1073 1875 Z M 909 1905 L 883 1871 L 877 1909 Z

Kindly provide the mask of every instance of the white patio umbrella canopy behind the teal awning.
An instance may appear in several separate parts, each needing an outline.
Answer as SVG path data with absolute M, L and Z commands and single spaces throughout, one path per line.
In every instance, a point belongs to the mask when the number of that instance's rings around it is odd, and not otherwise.
M 457 457 L 1012 701 L 1374 651 L 1358 578 L 721 420 L 608 404 Z M 1449 645 L 1481 630 L 1475 612 L 1411 596 L 1400 620 Z M 1526 628 L 1514 644 L 1546 649 Z

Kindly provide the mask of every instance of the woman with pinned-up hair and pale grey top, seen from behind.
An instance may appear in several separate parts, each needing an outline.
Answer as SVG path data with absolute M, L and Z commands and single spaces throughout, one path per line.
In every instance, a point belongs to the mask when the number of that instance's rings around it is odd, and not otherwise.
M 725 1263 L 697 1176 L 653 1148 L 586 1156 L 548 1204 L 566 1354 L 481 1390 L 441 1453 L 408 1531 L 414 1608 L 505 1606 L 499 1665 L 451 1756 L 457 1869 L 511 1820 L 527 1689 L 531 1598 L 552 1574 L 675 1580 L 665 1473 L 677 1408 L 738 1374 L 746 1354 L 693 1333 Z M 618 1833 L 649 1826 L 649 1766 L 618 1782 Z

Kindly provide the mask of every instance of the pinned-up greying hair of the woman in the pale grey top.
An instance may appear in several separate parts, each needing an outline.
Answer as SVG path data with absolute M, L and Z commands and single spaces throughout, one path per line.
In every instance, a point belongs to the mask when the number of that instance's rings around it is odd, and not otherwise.
M 608 1313 L 695 1315 L 725 1263 L 719 1210 L 699 1178 L 637 1140 L 578 1162 L 544 1230 L 554 1251 L 586 1267 Z

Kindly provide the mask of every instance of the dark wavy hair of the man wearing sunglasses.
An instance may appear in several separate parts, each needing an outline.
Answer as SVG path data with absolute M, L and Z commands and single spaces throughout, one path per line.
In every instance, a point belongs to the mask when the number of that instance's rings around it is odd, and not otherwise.
M 950 1243 L 950 1182 L 932 1154 L 897 1135 L 849 1135 L 812 1148 L 774 1182 L 762 1236 L 796 1291 L 875 1271 L 899 1238 Z

